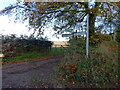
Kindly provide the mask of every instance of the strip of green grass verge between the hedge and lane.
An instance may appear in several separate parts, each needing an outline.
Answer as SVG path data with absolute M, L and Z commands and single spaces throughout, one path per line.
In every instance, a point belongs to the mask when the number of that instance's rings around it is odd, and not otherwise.
M 51 48 L 51 50 L 48 50 L 43 53 L 29 52 L 29 53 L 23 53 L 15 57 L 5 57 L 3 58 L 3 62 L 22 61 L 22 60 L 29 60 L 29 59 L 35 59 L 35 58 L 41 58 L 41 57 L 48 57 L 48 56 L 58 56 L 63 54 L 64 54 L 64 49 L 56 47 L 56 48 Z

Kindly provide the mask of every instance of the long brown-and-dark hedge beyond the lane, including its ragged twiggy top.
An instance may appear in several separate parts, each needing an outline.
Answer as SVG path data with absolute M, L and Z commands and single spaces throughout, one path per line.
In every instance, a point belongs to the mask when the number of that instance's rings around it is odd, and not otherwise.
M 5 56 L 17 56 L 27 52 L 46 52 L 49 50 L 53 42 L 48 41 L 47 38 L 23 36 L 17 37 L 12 34 L 10 36 L 2 36 L 2 49 Z

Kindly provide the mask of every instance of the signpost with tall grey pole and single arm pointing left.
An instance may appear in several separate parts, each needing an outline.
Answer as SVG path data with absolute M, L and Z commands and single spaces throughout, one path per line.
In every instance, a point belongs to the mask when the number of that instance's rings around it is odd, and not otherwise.
M 87 15 L 87 32 L 74 32 L 73 34 L 62 34 L 62 37 L 72 37 L 72 36 L 81 36 L 86 34 L 86 56 L 88 57 L 88 49 L 89 49 L 89 14 Z

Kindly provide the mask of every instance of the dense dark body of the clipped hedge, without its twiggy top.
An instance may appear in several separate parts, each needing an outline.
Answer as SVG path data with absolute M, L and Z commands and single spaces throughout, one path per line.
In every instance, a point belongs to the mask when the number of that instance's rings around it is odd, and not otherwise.
M 16 56 L 27 52 L 46 52 L 53 42 L 37 39 L 4 40 L 2 48 L 6 56 Z

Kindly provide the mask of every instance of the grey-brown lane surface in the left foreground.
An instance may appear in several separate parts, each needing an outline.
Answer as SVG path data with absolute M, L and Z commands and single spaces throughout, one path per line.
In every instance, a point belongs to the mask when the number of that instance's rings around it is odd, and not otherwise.
M 23 62 L 2 66 L 2 88 L 48 88 L 54 87 L 54 67 L 62 57 Z

